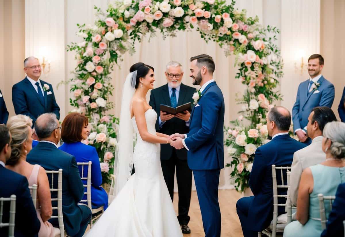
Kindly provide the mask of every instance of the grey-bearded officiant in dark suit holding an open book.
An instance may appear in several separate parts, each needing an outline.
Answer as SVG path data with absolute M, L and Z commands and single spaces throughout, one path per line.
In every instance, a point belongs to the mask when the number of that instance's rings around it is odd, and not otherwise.
M 177 107 L 190 102 L 193 105 L 194 87 L 184 85 L 182 82 L 183 68 L 176 61 L 170 61 L 166 65 L 165 77 L 167 84 L 153 89 L 150 96 L 150 106 L 157 112 L 156 131 L 164 134 L 188 133 L 190 111 L 176 115 L 160 111 L 160 104 Z M 161 166 L 165 182 L 167 184 L 171 200 L 174 199 L 174 176 L 178 187 L 178 221 L 182 232 L 189 234 L 188 216 L 192 186 L 192 171 L 187 164 L 187 150 L 176 150 L 170 144 L 161 144 Z

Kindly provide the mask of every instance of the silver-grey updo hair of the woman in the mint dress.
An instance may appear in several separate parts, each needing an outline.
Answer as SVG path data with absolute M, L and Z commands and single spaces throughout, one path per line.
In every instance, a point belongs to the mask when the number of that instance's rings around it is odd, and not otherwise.
M 345 158 L 345 123 L 330 122 L 325 125 L 323 136 L 332 141 L 331 155 L 334 158 Z

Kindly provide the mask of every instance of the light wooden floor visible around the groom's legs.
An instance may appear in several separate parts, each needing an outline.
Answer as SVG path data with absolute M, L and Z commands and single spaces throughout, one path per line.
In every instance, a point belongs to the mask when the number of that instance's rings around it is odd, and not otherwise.
M 219 190 L 219 206 L 221 211 L 221 237 L 243 237 L 241 225 L 236 214 L 236 201 L 242 194 L 236 190 Z M 174 194 L 174 208 L 177 212 L 178 195 Z M 190 234 L 184 237 L 205 237 L 203 221 L 196 191 L 192 191 L 190 208 L 189 208 L 189 228 Z

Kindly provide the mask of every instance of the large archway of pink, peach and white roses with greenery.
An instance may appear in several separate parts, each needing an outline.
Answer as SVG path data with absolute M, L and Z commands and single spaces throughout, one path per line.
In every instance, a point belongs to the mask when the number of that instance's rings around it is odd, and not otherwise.
M 237 190 L 248 187 L 248 178 L 258 146 L 267 139 L 265 116 L 274 101 L 281 99 L 275 91 L 282 76 L 280 51 L 274 44 L 279 30 L 262 27 L 258 18 L 246 17 L 246 11 L 234 9 L 218 0 L 124 0 L 110 5 L 106 12 L 95 7 L 95 26 L 79 25 L 79 43 L 71 43 L 67 51 L 75 51 L 78 66 L 68 82 L 75 111 L 89 117 L 91 134 L 84 141 L 96 147 L 100 157 L 103 183 L 111 182 L 118 118 L 106 115 L 113 107 L 108 102 L 114 87 L 110 73 L 125 52 L 135 52 L 134 43 L 146 34 L 174 37 L 178 30 L 200 32 L 200 37 L 215 41 L 225 55 L 235 55 L 236 78 L 247 86 L 237 103 L 243 104 L 239 118 L 225 128 L 227 152 L 232 157 Z M 270 36 L 269 36 L 270 35 Z M 248 125 L 243 124 L 244 118 Z

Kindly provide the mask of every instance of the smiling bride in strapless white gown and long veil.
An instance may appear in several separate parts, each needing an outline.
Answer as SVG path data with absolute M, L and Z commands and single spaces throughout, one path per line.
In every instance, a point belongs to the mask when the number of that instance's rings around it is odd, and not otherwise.
M 86 236 L 181 237 L 160 165 L 160 143 L 171 140 L 156 132 L 157 113 L 146 101 L 154 87 L 154 68 L 136 63 L 129 71 L 122 91 L 111 204 Z M 135 174 L 130 176 L 133 163 Z

